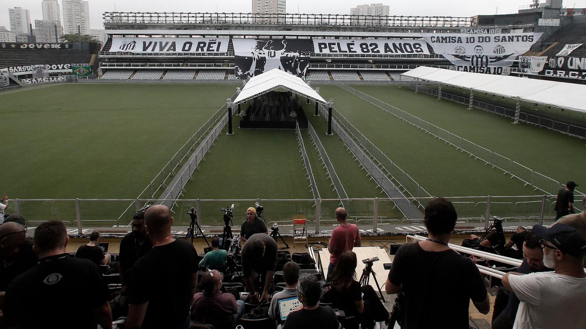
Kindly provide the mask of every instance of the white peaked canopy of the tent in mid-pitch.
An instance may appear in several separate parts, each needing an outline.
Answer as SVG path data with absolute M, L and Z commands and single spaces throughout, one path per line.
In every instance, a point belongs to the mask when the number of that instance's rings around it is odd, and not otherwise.
M 250 78 L 240 91 L 234 104 L 240 104 L 270 91 L 284 89 L 298 95 L 303 95 L 312 101 L 327 104 L 325 100 L 301 78 L 273 68 L 263 74 Z

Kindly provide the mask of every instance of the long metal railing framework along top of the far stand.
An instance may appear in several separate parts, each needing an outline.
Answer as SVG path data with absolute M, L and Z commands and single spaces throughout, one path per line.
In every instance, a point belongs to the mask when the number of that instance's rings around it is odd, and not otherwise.
M 471 17 L 370 16 L 299 13 L 105 12 L 104 24 L 284 24 L 471 27 Z

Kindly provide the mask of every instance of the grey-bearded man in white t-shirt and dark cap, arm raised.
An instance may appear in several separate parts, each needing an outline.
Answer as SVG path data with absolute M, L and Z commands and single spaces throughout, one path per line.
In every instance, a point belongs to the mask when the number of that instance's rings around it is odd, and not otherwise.
M 564 224 L 533 227 L 543 246 L 543 264 L 554 272 L 507 273 L 502 282 L 521 303 L 515 328 L 586 328 L 586 239 Z

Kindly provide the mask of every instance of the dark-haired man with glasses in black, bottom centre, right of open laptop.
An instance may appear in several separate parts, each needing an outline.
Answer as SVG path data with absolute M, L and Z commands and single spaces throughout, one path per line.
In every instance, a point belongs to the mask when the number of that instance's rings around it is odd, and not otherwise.
M 340 324 L 336 313 L 329 306 L 319 305 L 322 285 L 313 275 L 302 275 L 297 285 L 297 298 L 302 308 L 287 316 L 283 329 L 338 329 Z

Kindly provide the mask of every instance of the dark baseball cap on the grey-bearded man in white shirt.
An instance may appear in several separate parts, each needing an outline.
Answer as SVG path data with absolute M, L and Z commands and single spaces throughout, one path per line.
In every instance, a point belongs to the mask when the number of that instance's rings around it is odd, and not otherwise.
M 537 237 L 551 242 L 561 252 L 568 255 L 580 258 L 586 253 L 586 239 L 576 229 L 568 225 L 556 223 L 546 228 L 537 224 L 533 226 L 533 233 Z

